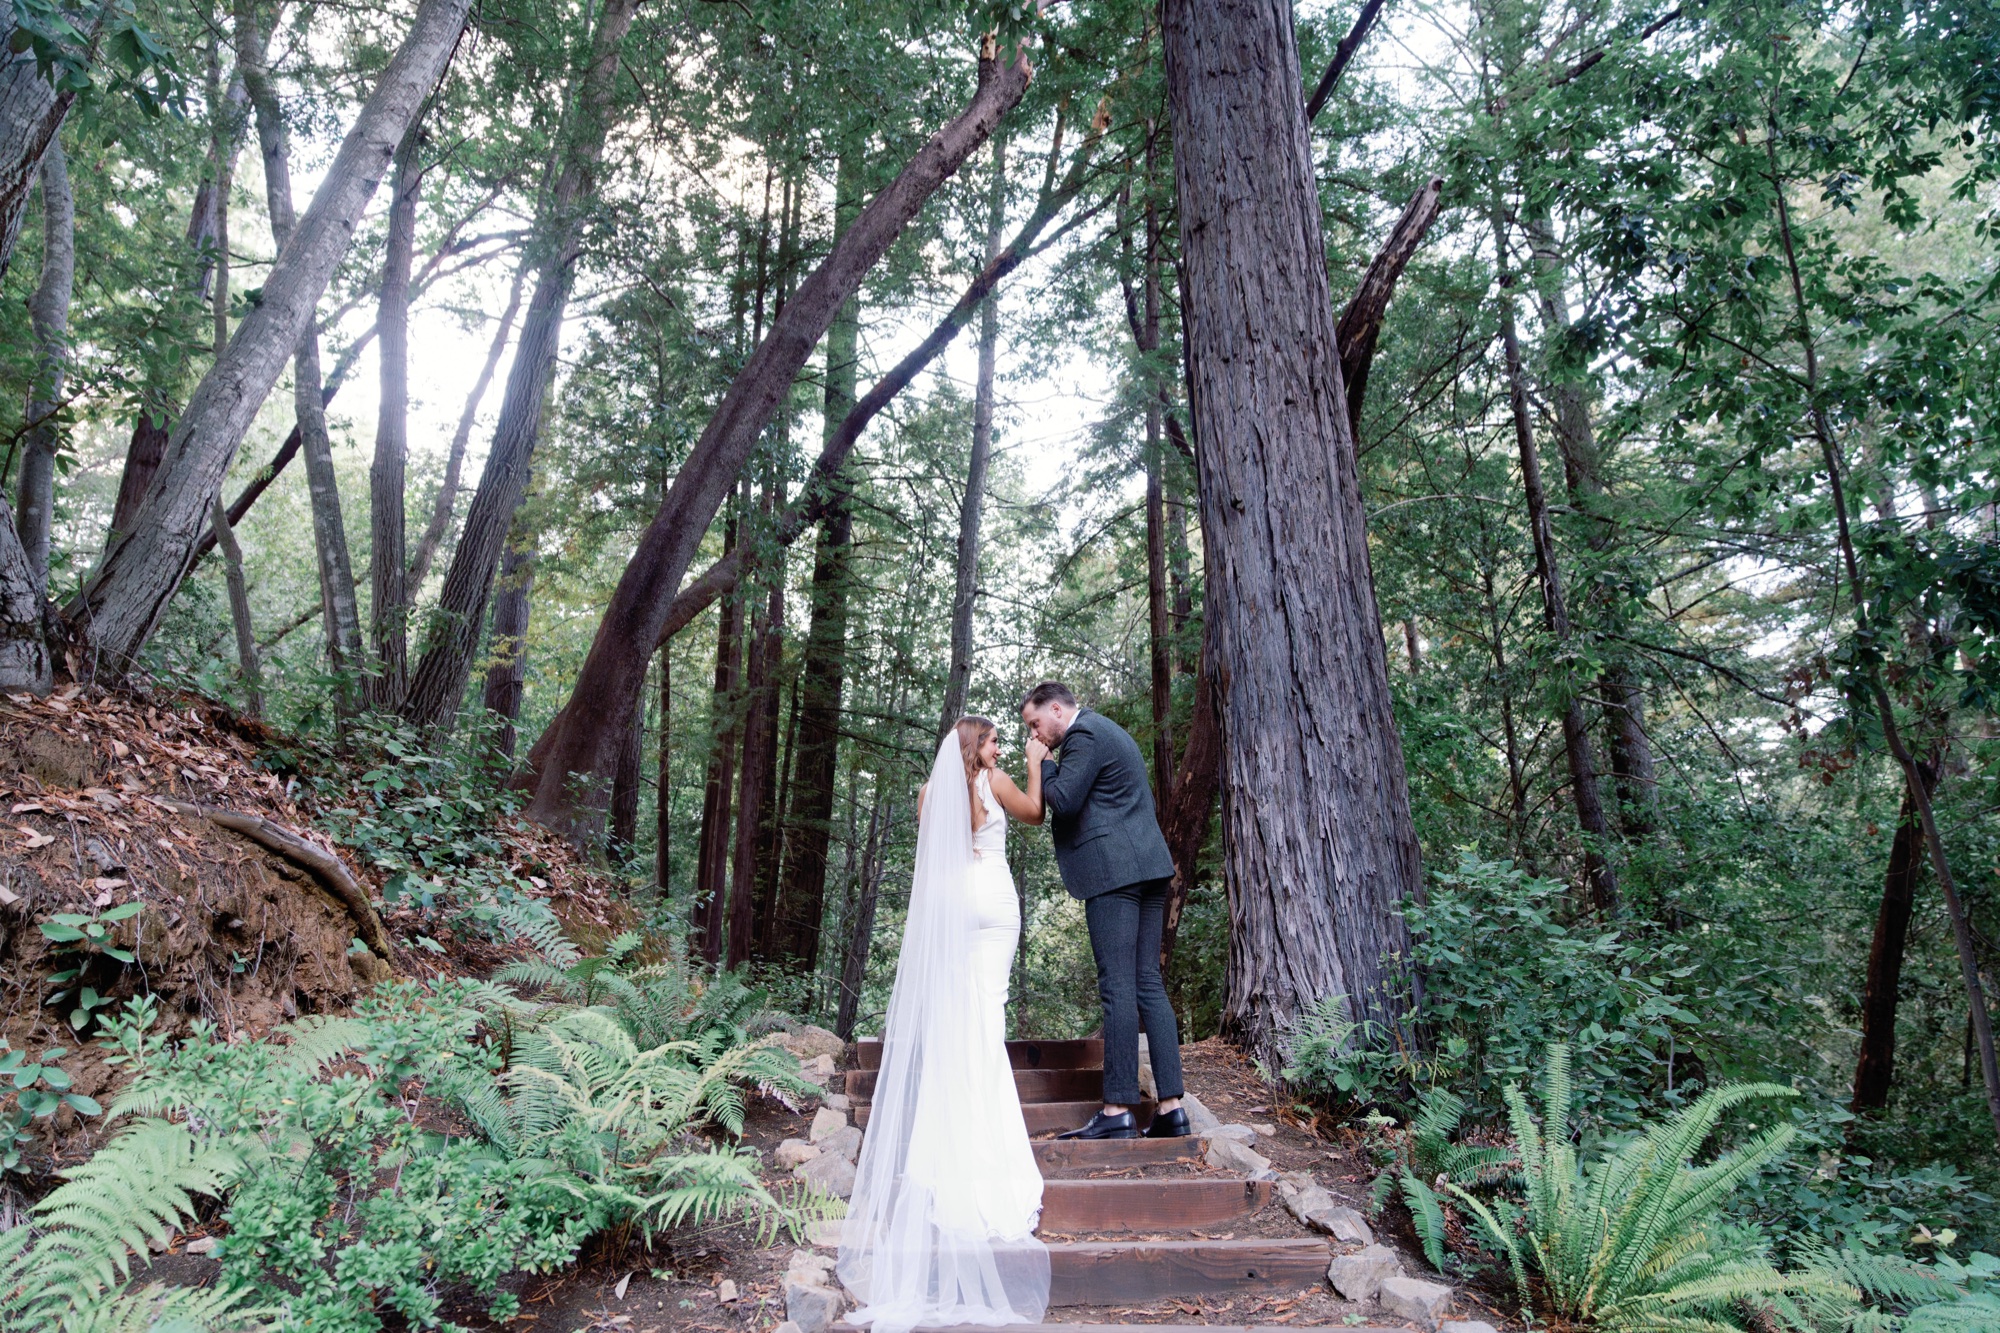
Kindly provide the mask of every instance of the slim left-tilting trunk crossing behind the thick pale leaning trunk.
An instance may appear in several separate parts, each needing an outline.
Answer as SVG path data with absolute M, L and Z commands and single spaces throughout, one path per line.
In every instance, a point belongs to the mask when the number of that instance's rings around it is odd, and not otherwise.
M 270 234 L 284 250 L 292 236 L 292 146 L 284 126 L 284 108 L 262 64 L 266 42 L 258 36 L 256 0 L 236 6 L 236 68 L 256 112 L 258 146 L 264 152 L 264 196 L 270 208 Z M 314 318 L 298 342 L 292 362 L 292 410 L 298 416 L 300 452 L 306 456 L 306 488 L 312 496 L 312 542 L 320 556 L 320 604 L 326 626 L 326 656 L 336 675 L 362 669 L 362 620 L 354 598 L 354 562 L 348 556 L 348 528 L 340 512 L 340 478 L 334 472 L 334 442 L 326 430 L 326 400 L 320 380 L 320 330 Z M 358 681 L 344 681 L 338 711 L 352 711 Z

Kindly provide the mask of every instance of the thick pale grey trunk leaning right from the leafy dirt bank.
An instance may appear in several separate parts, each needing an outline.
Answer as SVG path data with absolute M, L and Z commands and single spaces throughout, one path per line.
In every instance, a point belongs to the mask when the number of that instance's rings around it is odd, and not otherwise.
M 340 144 L 312 206 L 264 280 L 264 300 L 238 324 L 228 350 L 174 422 L 166 460 L 132 532 L 112 548 L 72 604 L 72 620 L 100 675 L 120 677 L 138 658 L 166 600 L 180 586 L 210 496 L 242 432 L 312 324 L 326 280 L 346 252 L 368 198 L 402 142 L 418 104 L 436 86 L 470 0 L 424 0 L 402 48 Z

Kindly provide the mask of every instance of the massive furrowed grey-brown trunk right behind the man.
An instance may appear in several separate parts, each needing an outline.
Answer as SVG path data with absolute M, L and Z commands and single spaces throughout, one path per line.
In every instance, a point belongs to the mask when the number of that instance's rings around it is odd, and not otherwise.
M 1276 1065 L 1330 995 L 1398 1025 L 1420 899 L 1318 188 L 1284 0 L 1166 0 L 1224 749 L 1224 1027 Z

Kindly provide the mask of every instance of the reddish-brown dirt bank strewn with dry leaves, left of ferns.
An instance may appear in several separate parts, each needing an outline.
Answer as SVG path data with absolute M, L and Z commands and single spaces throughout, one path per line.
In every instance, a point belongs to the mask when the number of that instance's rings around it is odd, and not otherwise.
M 396 973 L 486 971 L 508 953 L 398 947 L 450 937 L 408 911 L 384 927 L 368 869 L 258 767 L 262 739 L 190 697 L 0 699 L 0 1037 L 30 1059 L 62 1047 L 74 1091 L 114 1091 L 96 1013 L 134 995 L 158 1001 L 168 1033 L 208 1019 L 260 1035 L 340 1013 Z M 610 881 L 568 847 L 524 829 L 508 853 L 580 935 L 616 927 Z M 62 1109 L 44 1125 L 54 1133 L 30 1161 L 48 1163 L 76 1119 Z

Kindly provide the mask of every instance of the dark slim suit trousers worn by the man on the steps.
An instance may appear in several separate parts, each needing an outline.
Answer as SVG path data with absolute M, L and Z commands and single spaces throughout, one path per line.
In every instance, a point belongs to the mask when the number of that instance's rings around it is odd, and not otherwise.
M 1138 1105 L 1138 1035 L 1146 1031 L 1160 1097 L 1180 1097 L 1180 1033 L 1160 981 L 1160 929 L 1172 881 L 1148 879 L 1084 899 L 1104 1003 L 1104 1101 Z

